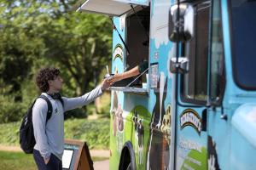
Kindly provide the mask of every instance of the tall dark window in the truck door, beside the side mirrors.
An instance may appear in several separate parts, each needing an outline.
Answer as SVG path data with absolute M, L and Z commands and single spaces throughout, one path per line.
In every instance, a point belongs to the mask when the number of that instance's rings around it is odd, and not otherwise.
M 195 35 L 184 45 L 189 57 L 189 72 L 182 77 L 183 100 L 204 104 L 207 101 L 207 54 L 210 3 L 195 5 Z

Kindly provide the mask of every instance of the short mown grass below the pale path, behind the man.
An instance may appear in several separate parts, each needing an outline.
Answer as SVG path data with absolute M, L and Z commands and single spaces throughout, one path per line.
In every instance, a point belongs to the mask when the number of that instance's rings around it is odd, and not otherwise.
M 108 157 L 92 157 L 93 161 L 104 161 Z M 3 170 L 34 170 L 37 166 L 32 155 L 23 152 L 0 151 L 0 169 Z

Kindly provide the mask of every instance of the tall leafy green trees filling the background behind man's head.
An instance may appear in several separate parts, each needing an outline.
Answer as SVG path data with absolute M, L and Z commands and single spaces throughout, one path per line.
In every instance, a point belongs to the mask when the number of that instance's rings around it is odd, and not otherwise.
M 40 68 L 61 69 L 62 94 L 78 96 L 101 82 L 111 59 L 106 16 L 71 11 L 75 0 L 0 0 L 0 122 L 20 120 L 39 92 Z M 70 112 L 80 116 L 86 108 Z

